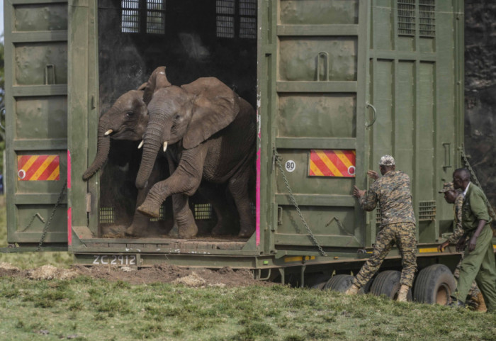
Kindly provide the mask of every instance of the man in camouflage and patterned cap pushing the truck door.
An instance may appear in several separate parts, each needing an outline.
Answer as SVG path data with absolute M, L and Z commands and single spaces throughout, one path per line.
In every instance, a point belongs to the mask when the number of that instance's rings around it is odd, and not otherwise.
M 356 186 L 353 189 L 353 195 L 359 199 L 360 206 L 365 211 L 373 211 L 379 203 L 382 220 L 372 256 L 363 264 L 345 294 L 357 294 L 359 289 L 376 274 L 391 247 L 396 244 L 401 253 L 403 266 L 401 288 L 397 299 L 405 302 L 417 270 L 417 240 L 410 177 L 395 170 L 395 160 L 390 155 L 381 157 L 379 167 L 383 175 L 381 178 L 377 172 L 371 170 L 367 172 L 368 177 L 376 180 L 368 192 Z

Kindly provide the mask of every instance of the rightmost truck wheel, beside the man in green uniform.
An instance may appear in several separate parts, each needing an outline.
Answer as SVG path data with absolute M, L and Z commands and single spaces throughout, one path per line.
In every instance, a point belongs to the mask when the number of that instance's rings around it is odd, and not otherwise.
M 444 264 L 434 264 L 420 270 L 415 281 L 413 296 L 420 303 L 446 306 L 456 289 L 455 277 Z

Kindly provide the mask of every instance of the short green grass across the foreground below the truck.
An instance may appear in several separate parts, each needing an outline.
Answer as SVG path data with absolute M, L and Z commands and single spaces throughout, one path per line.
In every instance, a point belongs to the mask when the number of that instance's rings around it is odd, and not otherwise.
M 495 340 L 496 315 L 287 286 L 0 281 L 0 339 Z M 38 336 L 38 337 L 41 337 Z

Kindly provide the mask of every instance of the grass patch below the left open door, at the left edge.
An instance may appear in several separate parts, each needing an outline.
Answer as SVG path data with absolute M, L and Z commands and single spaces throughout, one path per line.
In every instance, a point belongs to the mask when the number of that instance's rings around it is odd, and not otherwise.
M 0 247 L 7 247 L 6 221 L 5 196 L 0 196 Z M 21 269 L 33 269 L 45 264 L 51 264 L 57 267 L 69 267 L 72 264 L 72 255 L 69 252 L 0 253 L 0 262 L 11 263 Z

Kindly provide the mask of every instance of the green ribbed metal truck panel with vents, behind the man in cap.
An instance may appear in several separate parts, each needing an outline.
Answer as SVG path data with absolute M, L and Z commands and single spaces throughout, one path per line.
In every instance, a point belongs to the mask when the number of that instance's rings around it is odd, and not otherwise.
M 412 181 L 418 241 L 435 243 L 452 231 L 453 207 L 438 191 L 460 164 L 463 141 L 463 1 L 373 1 L 371 11 L 377 121 L 368 167 L 394 155 Z M 373 242 L 375 213 L 370 223 Z

